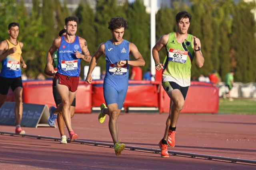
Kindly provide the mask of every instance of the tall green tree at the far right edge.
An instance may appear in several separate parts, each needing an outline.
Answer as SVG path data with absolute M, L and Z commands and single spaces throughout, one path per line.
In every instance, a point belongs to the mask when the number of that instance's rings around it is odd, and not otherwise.
M 255 81 L 255 19 L 251 10 L 255 3 L 239 2 L 233 13 L 232 49 L 236 59 L 236 81 Z

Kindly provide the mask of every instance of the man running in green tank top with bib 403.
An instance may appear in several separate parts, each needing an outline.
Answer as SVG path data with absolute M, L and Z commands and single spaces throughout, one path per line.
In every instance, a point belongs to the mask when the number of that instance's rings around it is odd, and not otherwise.
M 170 114 L 166 121 L 163 139 L 159 142 L 162 157 L 169 157 L 167 147 L 175 146 L 176 124 L 182 110 L 190 86 L 190 69 L 193 59 L 200 68 L 204 64 L 204 57 L 200 50 L 200 39 L 188 34 L 192 16 L 186 11 L 176 15 L 177 31 L 162 35 L 152 49 L 156 70 L 162 71 L 162 86 L 172 99 Z M 160 63 L 158 52 L 166 48 L 164 63 Z

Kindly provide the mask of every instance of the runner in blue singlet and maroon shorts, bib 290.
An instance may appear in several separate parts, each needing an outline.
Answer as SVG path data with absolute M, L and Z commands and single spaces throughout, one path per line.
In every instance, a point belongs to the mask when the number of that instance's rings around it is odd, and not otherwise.
M 65 19 L 66 35 L 53 41 L 47 53 L 47 71 L 54 73 L 52 66 L 52 54 L 58 49 L 58 72 L 54 76 L 53 86 L 56 84 L 62 103 L 57 107 L 50 107 L 48 124 L 52 126 L 58 113 L 62 114 L 65 121 L 70 141 L 78 138 L 71 126 L 69 107 L 74 100 L 79 82 L 81 59 L 89 62 L 90 53 L 86 40 L 76 35 L 78 18 L 69 16 Z M 83 54 L 84 55 L 83 55 Z

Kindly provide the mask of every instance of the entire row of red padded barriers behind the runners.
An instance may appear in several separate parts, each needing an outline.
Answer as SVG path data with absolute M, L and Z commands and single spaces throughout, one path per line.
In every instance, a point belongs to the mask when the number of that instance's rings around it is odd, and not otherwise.
M 191 82 L 182 113 L 217 113 L 218 99 L 218 88 L 212 84 Z M 7 101 L 14 101 L 11 90 Z M 52 80 L 23 82 L 23 102 L 55 106 Z M 76 112 L 90 113 L 92 107 L 99 107 L 104 102 L 103 80 L 93 81 L 92 84 L 79 82 Z M 159 82 L 129 80 L 124 107 L 158 107 L 160 113 L 169 112 L 170 98 Z

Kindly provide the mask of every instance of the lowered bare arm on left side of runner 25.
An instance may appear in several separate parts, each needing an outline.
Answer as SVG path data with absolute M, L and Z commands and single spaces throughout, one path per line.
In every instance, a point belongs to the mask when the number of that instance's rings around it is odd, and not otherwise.
M 89 70 L 88 70 L 87 77 L 86 77 L 86 82 L 88 82 L 89 84 L 92 82 L 92 71 L 96 67 L 98 59 L 102 56 L 102 54 L 105 54 L 104 43 L 100 44 L 100 46 L 98 47 L 98 50 L 92 56 L 92 59 L 91 59 L 90 65 L 89 65 Z

